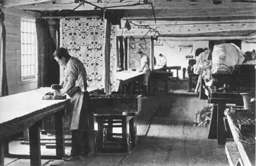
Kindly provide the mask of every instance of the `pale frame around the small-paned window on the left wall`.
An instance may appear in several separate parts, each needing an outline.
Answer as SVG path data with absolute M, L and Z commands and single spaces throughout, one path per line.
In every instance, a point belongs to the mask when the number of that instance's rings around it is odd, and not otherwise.
M 32 23 L 35 23 L 36 24 L 36 18 L 28 18 L 28 17 L 22 17 L 21 18 L 21 34 L 24 33 L 22 32 L 22 22 L 32 22 Z M 36 28 L 36 27 L 35 27 Z M 21 37 L 20 37 L 21 39 Z M 22 39 L 21 39 L 21 50 L 22 50 Z M 35 75 L 33 78 L 31 79 L 23 79 L 23 76 L 22 76 L 22 54 L 20 54 L 21 56 L 21 81 L 23 84 L 26 84 L 26 83 L 30 83 L 30 82 L 37 82 L 38 81 L 38 41 L 37 41 L 37 31 L 35 33 L 35 59 L 36 59 L 36 62 L 35 62 Z

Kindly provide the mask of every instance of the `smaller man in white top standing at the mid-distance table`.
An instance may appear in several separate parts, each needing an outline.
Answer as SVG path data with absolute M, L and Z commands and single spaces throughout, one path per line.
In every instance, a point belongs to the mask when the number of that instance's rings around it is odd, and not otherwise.
M 148 96 L 148 80 L 150 75 L 150 69 L 149 69 L 149 58 L 147 55 L 143 54 L 142 51 L 138 52 L 138 56 L 140 56 L 141 61 L 140 65 L 141 68 L 139 72 L 143 72 L 143 86 L 142 86 L 142 96 Z

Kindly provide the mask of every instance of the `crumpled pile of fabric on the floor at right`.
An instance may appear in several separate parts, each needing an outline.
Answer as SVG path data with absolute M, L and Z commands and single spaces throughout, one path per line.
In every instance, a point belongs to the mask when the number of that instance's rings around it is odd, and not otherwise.
M 205 106 L 202 110 L 195 114 L 194 126 L 207 127 L 210 123 L 210 115 L 212 114 L 213 106 Z

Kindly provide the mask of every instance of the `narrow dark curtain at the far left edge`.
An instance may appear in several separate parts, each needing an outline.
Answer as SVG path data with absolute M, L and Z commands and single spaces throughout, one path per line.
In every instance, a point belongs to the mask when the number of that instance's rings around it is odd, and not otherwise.
M 0 87 L 0 96 L 7 96 L 6 29 L 4 27 L 4 13 L 0 15 Z

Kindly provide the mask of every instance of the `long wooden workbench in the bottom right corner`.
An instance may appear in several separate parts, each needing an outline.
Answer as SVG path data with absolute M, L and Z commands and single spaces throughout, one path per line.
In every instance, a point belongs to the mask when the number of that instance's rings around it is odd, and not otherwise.
M 246 143 L 239 141 L 238 131 L 233 122 L 233 120 L 235 120 L 235 117 L 236 117 L 235 115 L 228 115 L 227 119 L 228 119 L 230 131 L 232 132 L 232 135 L 234 138 L 234 142 L 237 145 L 237 149 L 238 149 L 238 153 L 239 153 L 239 157 L 238 157 L 239 161 L 238 162 L 240 165 L 244 165 L 244 166 L 255 166 L 255 144 L 254 145 L 246 144 Z M 227 150 L 229 150 L 229 149 L 227 149 Z M 237 162 L 237 161 L 235 161 L 235 162 Z

